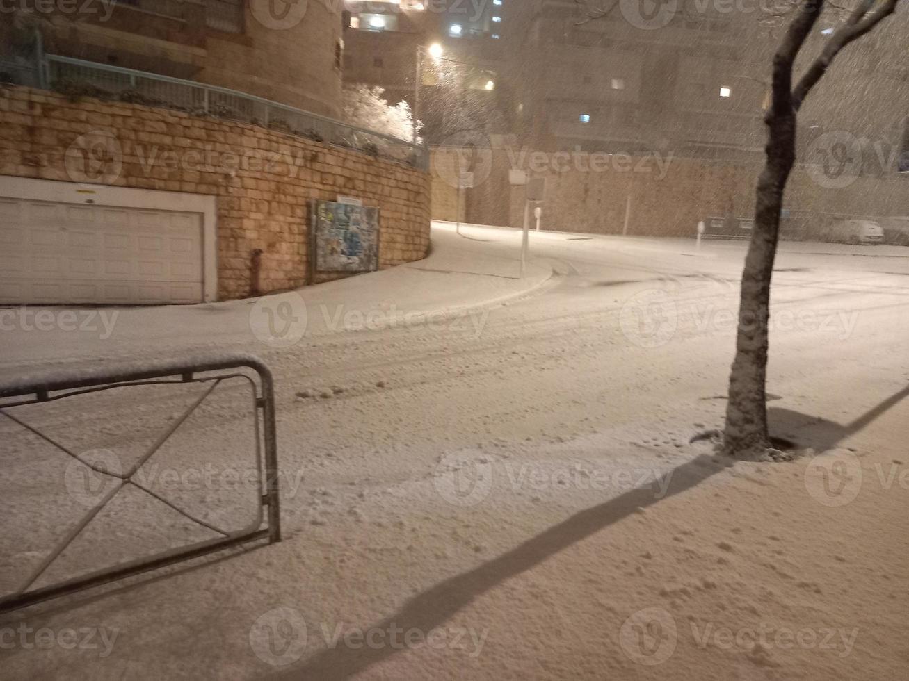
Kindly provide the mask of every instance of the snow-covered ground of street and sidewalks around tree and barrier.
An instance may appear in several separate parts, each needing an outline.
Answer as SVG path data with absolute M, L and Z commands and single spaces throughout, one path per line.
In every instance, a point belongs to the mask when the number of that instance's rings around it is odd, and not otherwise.
M 285 540 L 2 616 L 0 676 L 903 677 L 909 249 L 782 245 L 770 407 L 814 452 L 731 464 L 689 440 L 722 424 L 744 244 L 533 233 L 519 281 L 518 243 L 436 225 L 423 262 L 299 293 L 83 331 L 7 314 L 5 378 L 263 357 Z M 142 390 L 11 413 L 126 466 L 199 389 Z M 140 470 L 230 528 L 256 494 L 244 397 L 215 390 Z M 97 490 L 9 419 L 0 442 L 10 589 Z M 48 577 L 211 536 L 134 492 Z

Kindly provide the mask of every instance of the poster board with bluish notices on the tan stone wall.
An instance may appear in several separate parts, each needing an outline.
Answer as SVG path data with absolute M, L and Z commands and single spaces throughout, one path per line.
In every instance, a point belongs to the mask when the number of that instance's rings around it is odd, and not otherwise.
M 379 269 L 379 209 L 355 203 L 312 202 L 314 275 Z

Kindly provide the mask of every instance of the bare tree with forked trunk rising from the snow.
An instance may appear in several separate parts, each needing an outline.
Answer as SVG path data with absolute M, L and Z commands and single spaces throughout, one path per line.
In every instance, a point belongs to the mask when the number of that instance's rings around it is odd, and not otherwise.
M 724 451 L 740 459 L 773 456 L 767 429 L 766 372 L 769 348 L 770 283 L 779 240 L 780 214 L 795 162 L 795 122 L 799 108 L 843 48 L 894 13 L 898 0 L 858 0 L 844 24 L 825 42 L 821 54 L 797 83 L 793 66 L 824 9 L 824 0 L 804 0 L 774 54 L 764 169 L 758 179 L 754 229 L 742 272 L 735 359 L 729 377 Z

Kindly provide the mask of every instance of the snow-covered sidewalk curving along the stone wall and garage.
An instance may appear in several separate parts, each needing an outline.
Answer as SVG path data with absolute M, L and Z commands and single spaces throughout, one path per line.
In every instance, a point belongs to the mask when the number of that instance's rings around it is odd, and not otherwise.
M 514 230 L 433 227 L 430 255 L 385 271 L 297 291 L 200 305 L 0 308 L 0 375 L 73 360 L 141 360 L 215 349 L 267 354 L 346 331 L 387 327 L 479 331 L 484 310 L 544 286 L 553 269 L 532 258 L 520 274 Z

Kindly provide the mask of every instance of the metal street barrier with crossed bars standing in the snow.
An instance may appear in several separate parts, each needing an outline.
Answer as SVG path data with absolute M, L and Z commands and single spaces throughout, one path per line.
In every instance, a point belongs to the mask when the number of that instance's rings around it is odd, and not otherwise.
M 255 371 L 255 376 L 258 380 L 256 381 L 248 371 L 238 371 L 243 369 Z M 145 487 L 139 480 L 134 479 L 134 476 L 136 471 L 155 455 L 155 452 L 189 418 L 196 408 L 212 394 L 222 381 L 236 378 L 248 380 L 251 386 L 253 409 L 255 410 L 255 470 L 258 474 L 256 484 L 257 489 L 261 491 L 261 503 L 256 508 L 255 520 L 250 525 L 239 530 L 229 531 L 217 528 L 214 524 L 195 517 L 185 508 L 179 508 L 178 505 L 167 498 Z M 161 431 L 151 447 L 145 449 L 144 453 L 132 466 L 119 473 L 99 468 L 92 462 L 86 461 L 79 454 L 67 449 L 40 429 L 21 419 L 13 410 L 15 407 L 65 400 L 76 395 L 85 395 L 86 393 L 101 390 L 130 390 L 141 386 L 181 383 L 204 384 L 205 390 L 179 417 L 173 419 Z M 66 532 L 65 537 L 45 554 L 40 564 L 31 571 L 22 586 L 16 588 L 13 593 L 0 596 L 0 612 L 26 607 L 48 598 L 96 587 L 155 568 L 163 568 L 183 560 L 203 556 L 256 539 L 267 538 L 270 542 L 281 540 L 277 447 L 275 441 L 275 390 L 271 372 L 262 360 L 255 356 L 231 353 L 218 355 L 214 358 L 201 357 L 185 361 L 163 361 L 146 363 L 141 366 L 134 364 L 127 367 L 110 367 L 100 370 L 57 371 L 54 374 L 46 374 L 44 376 L 26 377 L 25 380 L 20 381 L 4 381 L 0 382 L 0 414 L 6 419 L 11 419 L 22 428 L 27 429 L 38 438 L 50 443 L 56 449 L 62 450 L 67 456 L 82 462 L 90 469 L 117 479 L 115 486 L 93 508 L 90 508 L 83 518 L 75 522 Z M 35 581 L 45 573 L 47 568 L 54 563 L 55 559 L 60 556 L 65 548 L 105 508 L 106 504 L 115 497 L 117 492 L 127 486 L 142 490 L 183 517 L 213 530 L 221 537 L 172 548 L 152 556 L 127 561 L 114 567 L 96 569 L 87 574 L 48 586 L 33 587 Z

